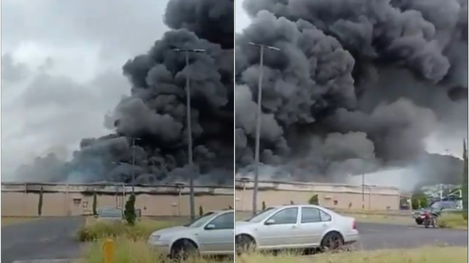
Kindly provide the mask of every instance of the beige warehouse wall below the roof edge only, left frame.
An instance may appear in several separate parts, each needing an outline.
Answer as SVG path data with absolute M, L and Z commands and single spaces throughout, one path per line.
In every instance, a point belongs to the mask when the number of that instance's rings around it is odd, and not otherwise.
M 97 194 L 97 207 L 122 207 L 127 201 L 122 195 Z M 196 213 L 202 206 L 204 211 L 234 207 L 233 195 L 200 195 L 195 197 Z M 142 210 L 144 216 L 177 216 L 180 202 L 180 215 L 189 215 L 189 195 L 138 194 L 135 207 Z M 39 193 L 36 192 L 1 192 L 2 216 L 37 216 Z M 92 214 L 93 195 L 82 193 L 53 192 L 43 193 L 43 216 L 78 216 Z

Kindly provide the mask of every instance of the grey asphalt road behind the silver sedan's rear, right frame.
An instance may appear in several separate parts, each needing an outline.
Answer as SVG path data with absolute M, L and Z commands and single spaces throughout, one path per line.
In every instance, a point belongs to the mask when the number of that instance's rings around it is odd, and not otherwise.
M 358 249 L 409 248 L 424 245 L 468 246 L 468 231 L 425 228 L 419 225 L 357 223 L 361 241 Z

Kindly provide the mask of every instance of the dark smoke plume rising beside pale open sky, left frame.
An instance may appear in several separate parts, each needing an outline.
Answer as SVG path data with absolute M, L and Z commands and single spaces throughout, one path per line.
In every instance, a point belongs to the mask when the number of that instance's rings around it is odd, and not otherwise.
M 123 66 L 131 95 L 105 118 L 115 133 L 83 139 L 66 163 L 54 155 L 37 158 L 18 170 L 18 178 L 129 183 L 134 176 L 137 183 L 165 183 L 194 176 L 198 184 L 232 184 L 233 16 L 233 0 L 170 0 L 165 22 L 173 30 Z M 186 67 L 184 54 L 174 47 L 206 53 L 191 54 Z M 193 167 L 187 166 L 186 77 L 191 79 Z

